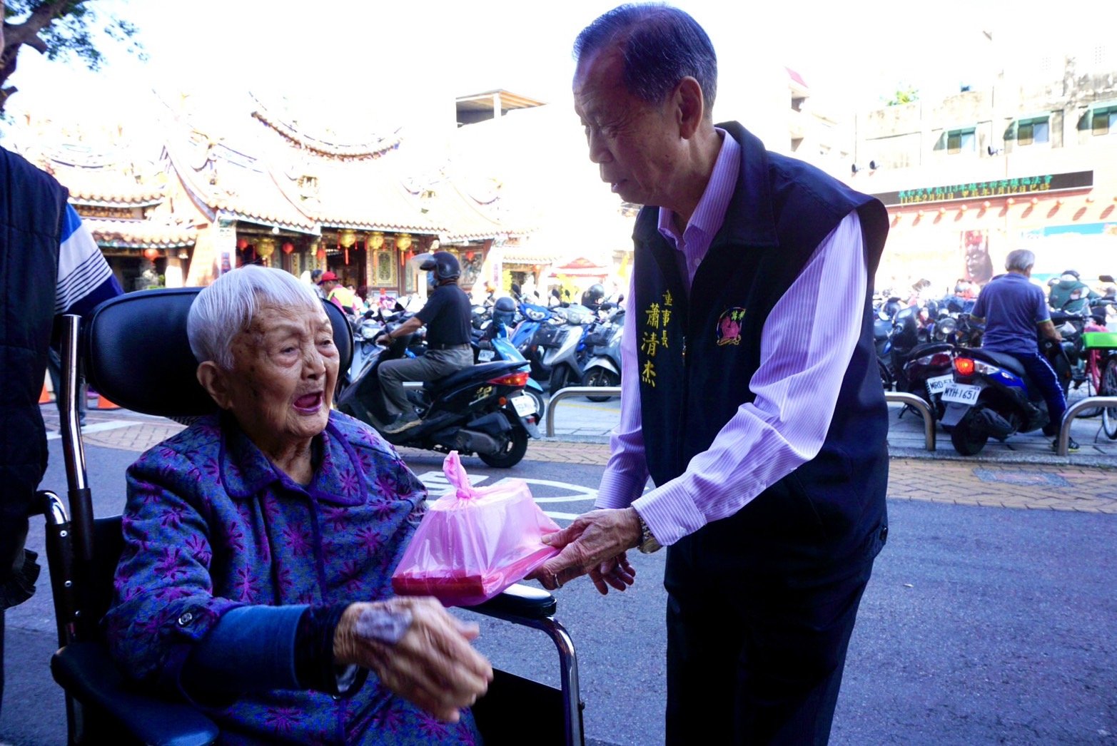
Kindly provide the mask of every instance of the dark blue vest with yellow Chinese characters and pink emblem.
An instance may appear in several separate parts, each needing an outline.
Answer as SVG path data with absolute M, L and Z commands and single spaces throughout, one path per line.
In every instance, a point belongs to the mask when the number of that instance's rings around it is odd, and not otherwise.
M 738 407 L 753 401 L 750 382 L 760 366 L 768 313 L 822 239 L 857 210 L 869 286 L 861 335 L 822 450 L 728 519 L 739 522 L 734 533 L 739 541 L 767 547 L 768 554 L 781 545 L 812 565 L 848 556 L 885 516 L 888 423 L 873 352 L 871 294 L 888 233 L 887 211 L 811 165 L 766 152 L 739 124 L 718 126 L 742 145 L 741 173 L 689 297 L 677 251 L 659 233 L 658 208 L 641 210 L 633 235 L 632 307 L 648 468 L 657 485 L 678 477 Z

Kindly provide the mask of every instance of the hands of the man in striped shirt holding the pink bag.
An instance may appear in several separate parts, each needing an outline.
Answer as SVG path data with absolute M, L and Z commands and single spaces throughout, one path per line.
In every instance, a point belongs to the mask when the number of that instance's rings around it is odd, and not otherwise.
M 640 543 L 634 508 L 591 510 L 544 536 L 543 543 L 562 549 L 531 575 L 548 591 L 586 573 L 601 594 L 609 593 L 610 585 L 623 591 L 636 582 L 636 570 L 624 554 Z

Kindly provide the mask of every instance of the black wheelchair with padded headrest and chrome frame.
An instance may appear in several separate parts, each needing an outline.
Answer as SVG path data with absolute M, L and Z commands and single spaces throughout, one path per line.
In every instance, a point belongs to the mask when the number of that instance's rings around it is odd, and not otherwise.
M 96 391 L 121 407 L 172 419 L 216 411 L 194 377 L 187 315 L 199 288 L 131 293 L 106 300 L 79 324 L 64 318 L 63 451 L 69 509 L 40 491 L 59 650 L 50 661 L 65 691 L 70 744 L 211 744 L 220 730 L 190 705 L 152 697 L 127 679 L 108 654 L 99 620 L 113 595 L 123 549 L 121 516 L 95 517 L 82 431 L 77 420 L 79 369 Z M 346 370 L 353 354 L 344 314 L 324 303 Z M 487 744 L 584 744 L 577 661 L 566 630 L 555 621 L 555 599 L 514 585 L 469 611 L 545 632 L 558 650 L 561 689 L 495 670 L 488 692 L 474 706 Z

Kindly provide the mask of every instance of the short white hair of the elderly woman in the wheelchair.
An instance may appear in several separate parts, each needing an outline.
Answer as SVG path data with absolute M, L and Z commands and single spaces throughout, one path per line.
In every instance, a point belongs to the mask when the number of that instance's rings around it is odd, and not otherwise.
M 187 337 L 199 363 L 213 361 L 232 370 L 232 337 L 247 329 L 265 306 L 322 310 L 311 286 L 281 269 L 247 265 L 202 288 L 190 306 Z

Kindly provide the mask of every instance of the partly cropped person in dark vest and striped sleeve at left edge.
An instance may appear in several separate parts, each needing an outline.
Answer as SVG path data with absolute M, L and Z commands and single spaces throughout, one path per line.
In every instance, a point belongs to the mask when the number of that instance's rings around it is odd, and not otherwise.
M 66 198 L 51 176 L 0 147 L 0 696 L 3 610 L 29 599 L 39 575 L 23 542 L 47 469 L 39 392 L 51 326 L 58 314 L 84 314 L 121 293 Z

